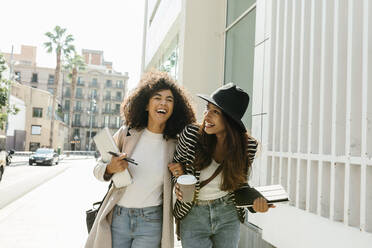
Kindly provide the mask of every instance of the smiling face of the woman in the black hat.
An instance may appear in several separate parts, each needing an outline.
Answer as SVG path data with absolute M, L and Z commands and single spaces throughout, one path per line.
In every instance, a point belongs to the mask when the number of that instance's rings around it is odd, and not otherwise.
M 225 132 L 225 123 L 219 107 L 208 103 L 204 111 L 204 131 L 207 134 L 222 134 Z

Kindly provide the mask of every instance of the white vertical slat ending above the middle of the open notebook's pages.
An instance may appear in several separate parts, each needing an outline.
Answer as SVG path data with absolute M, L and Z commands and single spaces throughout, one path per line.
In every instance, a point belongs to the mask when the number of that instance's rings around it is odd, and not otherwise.
M 281 4 L 281 1 L 278 1 L 277 2 L 277 6 L 276 6 L 276 28 L 275 28 L 275 31 L 276 31 L 276 37 L 275 37 L 275 76 L 274 76 L 274 104 L 273 104 L 273 131 L 272 131 L 272 134 L 273 134 L 273 137 L 272 137 L 272 140 L 273 140 L 273 143 L 272 143 L 272 151 L 273 152 L 276 152 L 276 148 L 275 148 L 275 142 L 276 142 L 276 139 L 275 139 L 275 136 L 276 136 L 276 119 L 277 119 L 277 113 L 276 113 L 276 102 L 277 102 L 277 94 L 276 92 L 278 91 L 278 70 L 279 70 L 279 37 L 280 37 L 280 4 Z M 272 157 L 272 160 L 271 160 L 271 184 L 274 183 L 274 178 L 275 178 L 275 157 L 273 156 Z

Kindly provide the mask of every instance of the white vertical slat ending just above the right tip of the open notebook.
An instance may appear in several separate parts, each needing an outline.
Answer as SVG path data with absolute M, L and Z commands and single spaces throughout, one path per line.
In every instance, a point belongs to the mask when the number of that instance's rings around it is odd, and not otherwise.
M 296 27 L 296 3 L 297 0 L 292 1 L 292 33 L 291 33 L 291 65 L 290 65 L 290 79 L 289 79 L 289 125 L 288 125 L 288 152 L 293 154 L 292 151 L 292 118 L 293 118 L 293 81 L 294 81 L 294 61 L 295 61 L 295 27 Z M 291 190 L 291 170 L 292 170 L 292 155 L 288 158 L 287 167 L 287 191 L 290 193 Z

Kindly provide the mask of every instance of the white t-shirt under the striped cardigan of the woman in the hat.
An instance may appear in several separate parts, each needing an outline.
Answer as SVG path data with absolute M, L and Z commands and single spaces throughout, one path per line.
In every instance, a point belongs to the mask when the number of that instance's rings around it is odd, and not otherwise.
M 212 163 L 205 169 L 200 171 L 200 182 L 210 178 L 218 168 L 219 164 L 212 160 Z M 229 192 L 220 190 L 222 182 L 222 172 L 220 172 L 212 181 L 199 191 L 199 200 L 214 200 L 227 195 Z

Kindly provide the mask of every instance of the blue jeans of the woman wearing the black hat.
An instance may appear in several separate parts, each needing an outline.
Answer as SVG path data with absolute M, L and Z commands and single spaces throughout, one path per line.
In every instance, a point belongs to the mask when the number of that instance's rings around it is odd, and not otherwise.
M 198 201 L 181 220 L 183 248 L 236 248 L 240 222 L 229 196 Z

